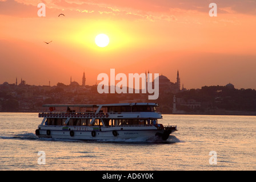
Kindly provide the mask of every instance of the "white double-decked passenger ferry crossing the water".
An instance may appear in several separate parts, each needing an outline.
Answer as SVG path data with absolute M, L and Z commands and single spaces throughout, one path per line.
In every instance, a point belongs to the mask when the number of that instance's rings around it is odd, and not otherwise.
M 78 140 L 122 140 L 145 137 L 167 140 L 177 126 L 158 123 L 162 114 L 155 103 L 100 105 L 43 105 L 50 111 L 38 114 L 39 138 Z

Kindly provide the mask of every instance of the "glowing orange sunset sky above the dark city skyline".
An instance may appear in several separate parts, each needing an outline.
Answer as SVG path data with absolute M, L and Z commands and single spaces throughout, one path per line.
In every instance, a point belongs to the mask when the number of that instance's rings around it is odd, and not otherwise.
M 38 3 L 46 16 L 38 16 Z M 95 44 L 98 34 L 109 36 L 108 46 Z M 0 0 L 0 84 L 16 77 L 18 84 L 70 84 L 70 77 L 82 84 L 85 72 L 94 85 L 115 69 L 171 82 L 179 71 L 187 89 L 229 82 L 256 89 L 255 50 L 252 0 Z

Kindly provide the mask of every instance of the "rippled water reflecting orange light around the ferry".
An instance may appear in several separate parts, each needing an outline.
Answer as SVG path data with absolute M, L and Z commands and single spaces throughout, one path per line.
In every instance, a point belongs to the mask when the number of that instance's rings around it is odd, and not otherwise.
M 256 169 L 256 117 L 163 115 L 177 125 L 166 142 L 38 139 L 37 113 L 0 113 L 0 170 L 250 170 Z M 39 151 L 45 152 L 45 164 Z M 210 151 L 217 164 L 210 164 Z

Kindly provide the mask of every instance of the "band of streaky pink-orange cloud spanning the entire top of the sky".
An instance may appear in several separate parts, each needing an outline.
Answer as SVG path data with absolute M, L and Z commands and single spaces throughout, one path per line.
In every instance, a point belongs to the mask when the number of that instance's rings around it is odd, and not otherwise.
M 145 19 L 177 20 L 177 15 L 208 13 L 210 0 L 0 0 L 0 14 L 33 17 L 37 15 L 37 4 L 46 4 L 47 16 L 55 16 L 60 11 L 70 13 L 70 17 L 79 18 L 81 13 L 90 14 L 89 18 L 125 18 L 127 20 Z M 218 14 L 256 15 L 256 1 L 215 0 Z M 80 16 L 79 16 L 80 15 Z M 81 18 L 84 16 L 81 16 Z

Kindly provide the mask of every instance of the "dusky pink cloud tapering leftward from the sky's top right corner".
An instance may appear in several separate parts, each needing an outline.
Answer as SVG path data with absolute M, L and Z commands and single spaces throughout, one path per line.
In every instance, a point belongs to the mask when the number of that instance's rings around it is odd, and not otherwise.
M 72 0 L 69 0 L 71 2 Z M 75 0 L 73 0 L 75 2 Z M 79 1 L 82 2 L 82 1 Z M 211 0 L 92 0 L 91 3 L 97 5 L 114 6 L 118 9 L 133 9 L 137 11 L 168 13 L 170 9 L 193 10 L 198 12 L 208 12 Z M 235 13 L 256 14 L 256 1 L 251 0 L 215 0 L 218 7 L 230 7 Z

